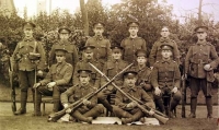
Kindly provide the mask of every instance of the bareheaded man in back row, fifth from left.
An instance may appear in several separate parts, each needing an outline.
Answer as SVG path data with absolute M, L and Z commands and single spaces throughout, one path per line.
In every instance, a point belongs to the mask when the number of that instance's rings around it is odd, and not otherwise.
M 177 44 L 170 39 L 170 32 L 168 26 L 163 26 L 161 29 L 161 38 L 159 40 L 157 40 L 153 46 L 152 49 L 150 51 L 150 56 L 149 56 L 149 63 L 150 63 L 150 68 L 153 68 L 153 64 L 155 63 L 155 61 L 159 61 L 162 59 L 161 56 L 161 45 L 170 45 L 173 47 L 173 60 L 175 60 L 177 63 L 180 63 L 180 51 L 177 48 Z

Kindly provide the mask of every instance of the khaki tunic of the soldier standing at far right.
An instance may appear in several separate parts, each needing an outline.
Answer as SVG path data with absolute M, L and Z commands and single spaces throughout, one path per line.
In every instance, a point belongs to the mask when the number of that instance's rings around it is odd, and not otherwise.
M 185 59 L 185 72 L 193 78 L 206 79 L 207 71 L 204 70 L 204 66 L 210 63 L 211 68 L 216 69 L 218 62 L 217 51 L 210 43 L 197 43 L 188 49 Z

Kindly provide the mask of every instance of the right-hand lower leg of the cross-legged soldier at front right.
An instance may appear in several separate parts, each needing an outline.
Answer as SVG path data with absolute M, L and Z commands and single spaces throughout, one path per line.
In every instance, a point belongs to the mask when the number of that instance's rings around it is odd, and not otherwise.
M 141 117 L 143 116 L 143 113 L 141 110 L 138 110 L 134 116 L 131 116 L 130 118 L 122 118 L 122 123 L 123 125 L 127 125 L 130 123 L 132 121 L 137 121 L 139 120 Z

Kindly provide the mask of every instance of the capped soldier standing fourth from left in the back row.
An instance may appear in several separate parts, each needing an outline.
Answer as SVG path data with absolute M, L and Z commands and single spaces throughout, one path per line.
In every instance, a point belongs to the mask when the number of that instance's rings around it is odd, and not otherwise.
M 146 40 L 138 36 L 139 23 L 129 22 L 127 24 L 129 37 L 122 40 L 120 46 L 124 48 L 123 59 L 128 63 L 132 63 L 136 59 L 135 52 L 138 49 L 147 50 Z

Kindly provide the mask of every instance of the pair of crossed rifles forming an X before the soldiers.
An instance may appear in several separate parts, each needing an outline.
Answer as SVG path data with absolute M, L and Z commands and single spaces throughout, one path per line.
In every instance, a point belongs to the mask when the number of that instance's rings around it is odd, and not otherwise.
M 96 90 L 95 92 L 92 92 L 88 95 L 85 95 L 83 98 L 74 102 L 73 104 L 70 104 L 68 107 L 66 107 L 65 109 L 51 114 L 48 116 L 48 121 L 57 121 L 60 117 L 62 117 L 66 114 L 66 110 L 68 108 L 71 108 L 71 110 L 77 109 L 79 106 L 81 106 L 83 104 L 83 99 L 90 99 L 92 98 L 95 94 L 97 94 L 99 92 L 101 92 L 103 88 L 105 88 L 108 84 L 112 84 L 114 87 L 116 87 L 117 91 L 119 91 L 122 94 L 124 94 L 124 96 L 126 96 L 128 99 L 130 99 L 131 102 L 136 102 L 137 106 L 145 113 L 145 114 L 149 114 L 150 110 L 153 110 L 153 117 L 157 118 L 161 123 L 166 123 L 166 121 L 169 120 L 169 118 L 166 118 L 165 115 L 163 115 L 162 113 L 152 109 L 146 105 L 143 105 L 143 103 L 137 98 L 135 98 L 134 96 L 131 96 L 130 94 L 125 93 L 123 90 L 120 90 L 113 81 L 120 75 L 122 73 L 124 73 L 128 68 L 130 68 L 132 66 L 132 63 L 130 63 L 129 66 L 127 66 L 125 69 L 123 69 L 119 73 L 117 73 L 114 78 L 112 78 L 111 80 L 103 73 L 101 72 L 95 66 L 93 66 L 92 63 L 89 62 L 89 64 L 96 70 L 102 76 L 104 76 L 108 82 L 105 83 L 103 86 L 101 86 L 99 90 Z M 147 107 L 147 109 L 145 108 Z M 148 110 L 149 109 L 149 110 Z

